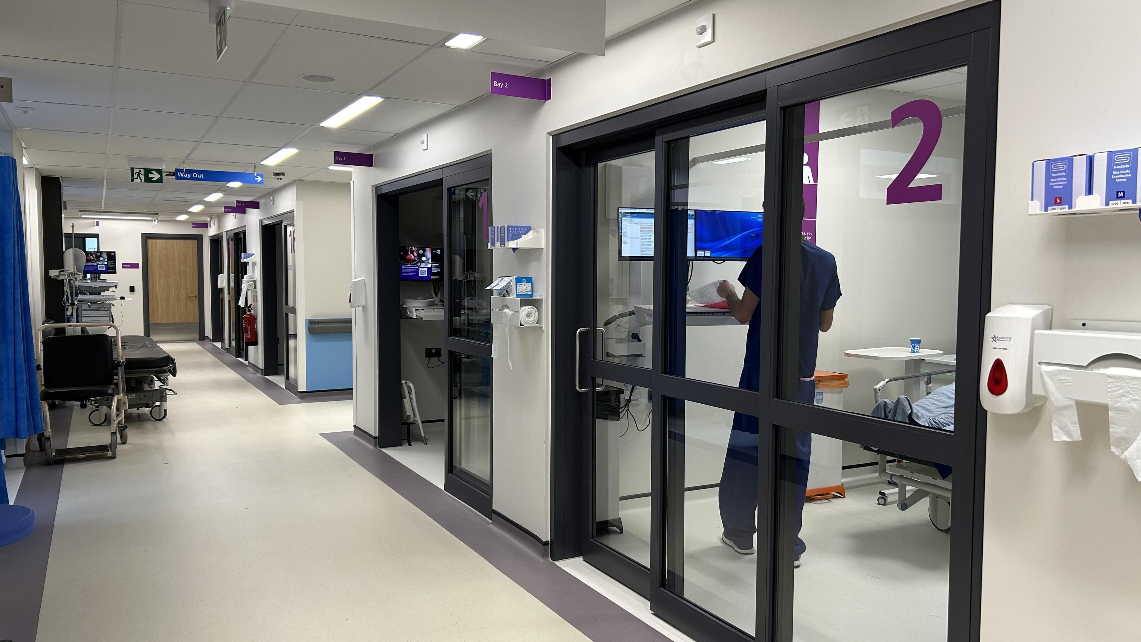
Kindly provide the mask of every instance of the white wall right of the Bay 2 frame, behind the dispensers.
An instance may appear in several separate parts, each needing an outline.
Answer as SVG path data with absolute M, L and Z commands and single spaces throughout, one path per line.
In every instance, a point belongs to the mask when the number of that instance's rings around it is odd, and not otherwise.
M 1002 9 L 992 305 L 1054 306 L 1075 318 L 1141 320 L 1135 216 L 1029 217 L 1035 159 L 1141 145 L 1141 5 L 1005 0 Z M 1043 61 L 1043 35 L 1079 54 Z M 1075 101 L 1052 101 L 1065 87 Z M 1049 412 L 990 415 L 987 427 L 982 640 L 1138 640 L 1141 483 L 1109 451 L 1104 408 L 1079 406 L 1085 438 L 1051 440 Z

